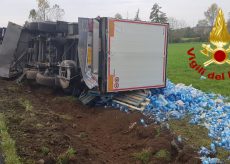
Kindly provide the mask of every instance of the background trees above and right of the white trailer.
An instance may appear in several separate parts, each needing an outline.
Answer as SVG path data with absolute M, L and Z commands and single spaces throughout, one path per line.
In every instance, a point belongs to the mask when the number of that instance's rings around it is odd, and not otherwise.
M 151 8 L 149 19 L 151 22 L 169 23 L 169 42 L 206 42 L 215 23 L 218 10 L 218 5 L 216 3 L 212 4 L 207 11 L 204 11 L 204 19 L 199 20 L 195 27 L 189 27 L 184 20 L 167 17 L 161 7 L 155 3 Z M 122 16 L 118 13 L 115 18 L 122 19 Z M 139 9 L 133 20 L 141 20 L 139 18 Z M 230 13 L 227 24 L 230 31 Z

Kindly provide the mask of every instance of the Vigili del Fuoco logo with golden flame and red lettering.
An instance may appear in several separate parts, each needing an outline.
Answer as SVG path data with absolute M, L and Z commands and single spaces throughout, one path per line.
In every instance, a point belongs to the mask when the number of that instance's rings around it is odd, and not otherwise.
M 196 55 L 193 53 L 194 48 L 188 50 L 189 66 L 197 71 L 201 76 L 206 76 L 209 79 L 225 80 L 226 77 L 230 78 L 230 71 L 225 74 L 217 74 L 215 72 L 207 72 L 206 68 L 211 64 L 229 64 L 230 66 L 230 35 L 227 29 L 227 24 L 224 19 L 223 11 L 220 9 L 216 17 L 216 21 L 209 37 L 210 44 L 203 44 L 201 54 L 207 57 L 207 61 L 203 65 L 196 62 Z

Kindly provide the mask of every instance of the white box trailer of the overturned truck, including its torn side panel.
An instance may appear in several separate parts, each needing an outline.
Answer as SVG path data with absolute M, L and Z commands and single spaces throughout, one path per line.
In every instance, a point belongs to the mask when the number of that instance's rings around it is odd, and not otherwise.
M 78 23 L 79 61 L 90 89 L 111 93 L 165 87 L 168 24 L 113 18 L 79 18 Z

